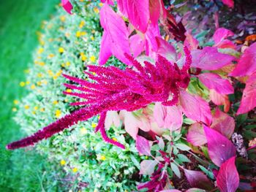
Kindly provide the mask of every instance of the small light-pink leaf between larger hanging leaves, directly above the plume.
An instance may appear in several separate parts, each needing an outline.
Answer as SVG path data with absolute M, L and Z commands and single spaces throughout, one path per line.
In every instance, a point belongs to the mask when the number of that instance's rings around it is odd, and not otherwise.
M 138 57 L 138 55 L 140 55 L 140 53 L 143 52 L 143 50 L 145 49 L 143 39 L 141 39 L 139 34 L 135 34 L 129 38 L 129 42 L 131 45 L 133 56 L 135 58 Z

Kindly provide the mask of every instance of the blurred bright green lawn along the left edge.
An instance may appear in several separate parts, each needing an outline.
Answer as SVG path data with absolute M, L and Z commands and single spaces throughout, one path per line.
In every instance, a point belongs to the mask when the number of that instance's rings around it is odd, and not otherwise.
M 26 94 L 20 81 L 37 47 L 36 31 L 60 0 L 0 0 L 0 191 L 59 191 L 54 169 L 33 150 L 7 151 L 23 133 L 12 120 L 13 100 Z M 55 177 L 55 176 L 54 176 Z

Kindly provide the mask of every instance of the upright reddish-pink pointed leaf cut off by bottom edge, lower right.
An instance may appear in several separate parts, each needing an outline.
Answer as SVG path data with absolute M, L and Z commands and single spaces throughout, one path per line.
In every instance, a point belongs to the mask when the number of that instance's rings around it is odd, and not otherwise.
M 235 192 L 239 186 L 239 174 L 235 161 L 236 157 L 233 156 L 220 166 L 217 187 L 221 192 Z

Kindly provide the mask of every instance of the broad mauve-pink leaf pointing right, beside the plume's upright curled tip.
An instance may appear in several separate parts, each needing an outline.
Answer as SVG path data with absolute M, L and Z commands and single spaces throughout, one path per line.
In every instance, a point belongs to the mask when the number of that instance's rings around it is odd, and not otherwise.
M 204 47 L 192 50 L 192 67 L 205 70 L 217 70 L 231 63 L 233 56 L 219 53 L 217 47 Z

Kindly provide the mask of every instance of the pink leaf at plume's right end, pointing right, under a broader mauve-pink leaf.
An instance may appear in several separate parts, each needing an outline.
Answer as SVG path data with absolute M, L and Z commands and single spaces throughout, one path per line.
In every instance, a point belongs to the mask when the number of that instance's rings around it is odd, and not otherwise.
M 208 89 L 214 89 L 220 94 L 231 94 L 234 93 L 234 88 L 229 80 L 224 80 L 218 74 L 214 73 L 202 73 L 197 75 L 199 80 L 206 85 Z

